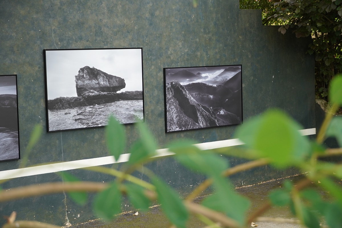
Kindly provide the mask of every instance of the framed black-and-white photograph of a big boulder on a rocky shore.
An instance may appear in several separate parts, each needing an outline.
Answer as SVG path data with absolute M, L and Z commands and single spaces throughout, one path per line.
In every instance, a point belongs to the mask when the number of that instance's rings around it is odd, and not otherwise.
M 144 121 L 142 48 L 44 50 L 48 132 Z

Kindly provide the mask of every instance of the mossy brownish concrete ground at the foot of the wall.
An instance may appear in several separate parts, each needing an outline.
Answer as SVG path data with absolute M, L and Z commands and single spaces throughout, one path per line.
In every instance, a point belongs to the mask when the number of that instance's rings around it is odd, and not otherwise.
M 251 200 L 252 206 L 249 210 L 248 214 L 250 214 L 255 209 L 258 209 L 261 205 L 263 205 L 267 201 L 267 192 L 271 189 L 276 189 L 282 187 L 282 182 L 285 179 L 292 181 L 293 183 L 297 182 L 299 179 L 303 178 L 302 176 L 293 176 L 278 180 L 272 180 L 269 182 L 256 184 L 248 187 L 243 187 L 237 189 L 239 193 L 248 197 Z M 294 184 L 295 185 L 295 184 Z M 322 195 L 327 195 L 328 193 L 321 191 Z M 203 198 L 198 198 L 197 201 L 200 201 Z M 129 212 L 126 214 L 119 215 L 117 219 L 106 224 L 101 220 L 94 220 L 88 223 L 83 223 L 79 225 L 73 225 L 71 228 L 168 228 L 170 224 L 167 218 L 163 215 L 161 208 L 159 206 L 153 207 L 148 212 L 140 212 L 138 215 L 134 215 L 136 211 Z M 282 219 L 294 219 L 291 212 L 288 208 L 284 207 L 272 207 L 272 209 L 268 210 L 263 217 L 272 217 L 272 218 L 282 218 Z M 258 228 L 300 228 L 300 225 L 290 224 L 290 223 L 275 223 L 275 222 L 256 222 L 258 224 Z M 187 223 L 188 228 L 201 228 L 206 227 L 197 217 L 191 216 Z M 248 226 L 252 228 L 252 226 Z

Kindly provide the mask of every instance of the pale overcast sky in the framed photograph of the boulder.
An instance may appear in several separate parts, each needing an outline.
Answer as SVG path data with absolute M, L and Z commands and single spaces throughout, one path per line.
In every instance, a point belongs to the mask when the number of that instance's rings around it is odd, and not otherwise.
M 89 66 L 123 78 L 126 88 L 118 91 L 142 91 L 142 49 L 47 50 L 48 99 L 76 97 L 75 76 Z

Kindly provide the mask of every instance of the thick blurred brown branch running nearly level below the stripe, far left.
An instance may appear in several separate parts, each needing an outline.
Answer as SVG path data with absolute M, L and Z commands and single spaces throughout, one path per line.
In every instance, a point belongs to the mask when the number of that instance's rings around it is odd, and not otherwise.
M 98 192 L 105 189 L 108 185 L 98 182 L 54 182 L 39 185 L 13 188 L 0 191 L 0 202 L 21 199 L 32 196 L 41 196 L 63 191 L 72 192 Z

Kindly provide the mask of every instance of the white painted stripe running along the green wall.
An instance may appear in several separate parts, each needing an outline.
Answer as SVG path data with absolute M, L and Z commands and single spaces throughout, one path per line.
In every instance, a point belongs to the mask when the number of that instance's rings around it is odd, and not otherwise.
M 303 129 L 300 130 L 302 135 L 314 135 L 316 134 L 316 129 Z M 208 142 L 208 143 L 199 143 L 195 144 L 201 150 L 208 150 L 208 149 L 216 149 L 222 147 L 229 147 L 229 146 L 237 146 L 242 145 L 239 139 L 227 139 L 215 142 Z M 155 157 L 161 156 L 168 156 L 173 155 L 167 148 L 166 149 L 159 149 L 157 150 L 157 155 Z M 115 160 L 113 156 L 101 157 L 101 158 L 91 158 L 91 159 L 83 159 L 77 161 L 68 161 L 68 162 L 60 162 L 54 164 L 47 164 L 47 165 L 38 165 L 34 167 L 27 167 L 22 169 L 15 169 L 15 170 L 5 170 L 0 171 L 0 179 L 9 179 L 9 178 L 16 178 L 16 177 L 25 177 L 25 176 L 32 176 L 32 175 L 39 175 L 45 173 L 54 173 L 63 170 L 73 170 L 73 169 L 80 169 L 90 166 L 98 166 L 98 165 L 107 165 L 107 164 L 114 164 L 120 162 L 126 162 L 129 159 L 130 154 L 126 153 L 120 156 L 119 160 Z

